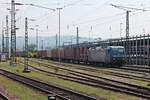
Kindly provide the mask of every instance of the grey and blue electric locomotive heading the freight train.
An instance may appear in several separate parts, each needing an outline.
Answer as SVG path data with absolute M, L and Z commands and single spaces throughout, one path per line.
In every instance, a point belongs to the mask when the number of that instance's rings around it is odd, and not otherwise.
M 123 46 L 95 47 L 88 50 L 90 63 L 122 65 L 125 63 L 125 49 Z

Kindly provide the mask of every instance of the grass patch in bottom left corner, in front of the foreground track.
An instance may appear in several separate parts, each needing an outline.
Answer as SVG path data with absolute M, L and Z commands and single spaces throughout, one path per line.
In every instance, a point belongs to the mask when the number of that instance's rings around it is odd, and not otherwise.
M 29 87 L 0 76 L 0 85 L 6 90 L 17 96 L 20 100 L 47 100 L 47 96 Z

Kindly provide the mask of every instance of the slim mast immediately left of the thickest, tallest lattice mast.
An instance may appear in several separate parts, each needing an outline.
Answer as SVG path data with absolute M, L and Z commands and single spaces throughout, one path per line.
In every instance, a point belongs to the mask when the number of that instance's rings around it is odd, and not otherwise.
M 8 15 L 6 16 L 6 53 L 7 58 L 9 59 L 9 28 L 8 28 Z

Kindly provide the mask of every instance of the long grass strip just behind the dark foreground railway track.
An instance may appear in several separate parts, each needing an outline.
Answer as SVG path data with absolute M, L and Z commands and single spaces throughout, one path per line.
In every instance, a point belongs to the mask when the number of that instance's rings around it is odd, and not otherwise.
M 20 75 L 40 79 L 45 82 L 48 82 L 49 84 L 56 84 L 56 85 L 59 85 L 62 87 L 67 87 L 69 89 L 84 92 L 89 95 L 104 97 L 104 98 L 107 98 L 108 100 L 140 100 L 140 98 L 137 98 L 134 96 L 129 96 L 126 94 L 112 92 L 112 91 L 104 90 L 101 88 L 95 88 L 95 87 L 91 87 L 91 86 L 87 86 L 87 85 L 82 85 L 82 84 L 79 84 L 76 82 L 59 79 L 57 77 L 47 76 L 45 74 L 38 73 L 38 72 L 32 71 L 31 73 L 22 73 L 23 67 L 21 65 L 17 66 L 17 67 L 10 67 L 7 63 L 1 63 L 0 65 L 1 65 L 0 68 L 20 74 Z M 37 100 L 39 100 L 39 99 L 37 99 Z

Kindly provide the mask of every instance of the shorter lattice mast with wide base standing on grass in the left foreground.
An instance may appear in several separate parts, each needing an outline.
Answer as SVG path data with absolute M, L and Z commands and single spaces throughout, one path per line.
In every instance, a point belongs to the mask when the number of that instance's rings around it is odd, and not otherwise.
M 28 68 L 28 18 L 25 18 L 25 50 L 24 50 L 24 70 L 23 72 L 30 72 Z

